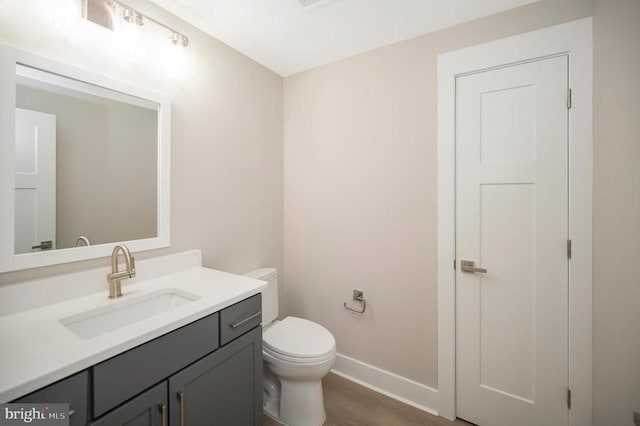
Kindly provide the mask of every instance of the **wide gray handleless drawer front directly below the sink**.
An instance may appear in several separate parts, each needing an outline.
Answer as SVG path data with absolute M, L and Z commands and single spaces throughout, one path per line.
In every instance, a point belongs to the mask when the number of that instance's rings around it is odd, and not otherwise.
M 217 348 L 215 313 L 94 366 L 94 416 L 101 416 Z

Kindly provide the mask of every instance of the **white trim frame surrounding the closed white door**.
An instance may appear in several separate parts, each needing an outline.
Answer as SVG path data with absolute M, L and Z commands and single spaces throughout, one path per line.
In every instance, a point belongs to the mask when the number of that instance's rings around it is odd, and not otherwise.
M 455 99 L 465 74 L 558 55 L 569 57 L 569 426 L 590 426 L 593 303 L 592 18 L 438 56 L 438 414 L 456 417 Z

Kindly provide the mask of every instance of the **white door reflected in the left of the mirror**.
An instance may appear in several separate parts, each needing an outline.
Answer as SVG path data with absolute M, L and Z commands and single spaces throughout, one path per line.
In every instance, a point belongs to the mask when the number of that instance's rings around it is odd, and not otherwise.
M 56 116 L 16 108 L 15 253 L 56 241 Z

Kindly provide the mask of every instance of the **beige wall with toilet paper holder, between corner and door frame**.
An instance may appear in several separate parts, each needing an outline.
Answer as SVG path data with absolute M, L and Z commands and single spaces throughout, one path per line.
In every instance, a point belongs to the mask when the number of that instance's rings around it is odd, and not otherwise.
M 287 313 L 437 388 L 437 55 L 592 9 L 541 1 L 286 78 Z M 353 288 L 362 317 L 342 306 Z

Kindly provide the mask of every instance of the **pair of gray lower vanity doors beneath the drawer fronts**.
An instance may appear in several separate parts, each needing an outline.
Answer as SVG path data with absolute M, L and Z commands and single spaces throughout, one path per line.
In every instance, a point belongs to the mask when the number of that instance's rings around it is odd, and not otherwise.
M 256 328 L 111 410 L 90 426 L 261 424 L 262 330 Z

